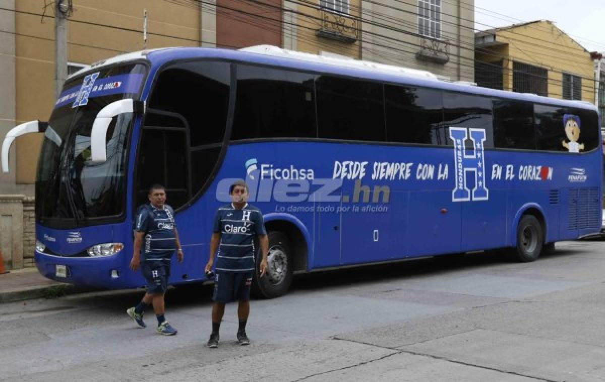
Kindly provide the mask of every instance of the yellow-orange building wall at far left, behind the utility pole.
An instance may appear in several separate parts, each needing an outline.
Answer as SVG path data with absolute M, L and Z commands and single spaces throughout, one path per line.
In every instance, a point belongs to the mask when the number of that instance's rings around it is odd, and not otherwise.
M 26 14 L 41 14 L 42 4 L 38 0 L 16 2 L 17 123 L 36 119 L 46 121 L 54 105 L 54 19 L 45 18 L 42 23 L 41 16 Z M 67 60 L 90 64 L 142 50 L 145 8 L 148 17 L 146 48 L 198 46 L 200 13 L 195 6 L 166 1 L 74 0 L 73 15 L 67 22 Z M 53 9 L 52 5 L 48 7 L 47 15 L 53 16 Z M 17 183 L 34 183 L 41 143 L 42 134 L 28 134 L 16 141 Z

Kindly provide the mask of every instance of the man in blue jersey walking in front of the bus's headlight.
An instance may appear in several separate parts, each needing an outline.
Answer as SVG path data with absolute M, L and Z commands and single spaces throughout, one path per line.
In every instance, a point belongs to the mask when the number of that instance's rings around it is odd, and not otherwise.
M 154 184 L 149 189 L 149 204 L 139 207 L 134 228 L 134 250 L 130 269 L 141 267 L 147 282 L 147 293 L 139 305 L 126 311 L 141 328 L 145 328 L 143 312 L 153 305 L 157 317 L 157 332 L 165 335 L 177 334 L 164 316 L 164 296 L 168 289 L 170 259 L 177 251 L 178 262 L 183 261 L 183 249 L 178 241 L 174 210 L 166 203 L 166 189 Z

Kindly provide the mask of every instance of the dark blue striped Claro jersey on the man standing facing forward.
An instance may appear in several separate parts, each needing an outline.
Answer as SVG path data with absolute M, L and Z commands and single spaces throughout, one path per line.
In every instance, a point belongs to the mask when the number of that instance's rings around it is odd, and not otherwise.
M 218 273 L 254 270 L 255 236 L 267 234 L 261 210 L 247 203 L 242 209 L 226 204 L 217 210 L 212 231 L 221 234 Z

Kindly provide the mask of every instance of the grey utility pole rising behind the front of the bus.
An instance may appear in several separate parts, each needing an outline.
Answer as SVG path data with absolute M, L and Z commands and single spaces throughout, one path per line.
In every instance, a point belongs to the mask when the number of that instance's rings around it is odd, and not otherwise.
M 71 0 L 55 0 L 54 4 L 54 93 L 59 98 L 67 78 L 67 18 Z

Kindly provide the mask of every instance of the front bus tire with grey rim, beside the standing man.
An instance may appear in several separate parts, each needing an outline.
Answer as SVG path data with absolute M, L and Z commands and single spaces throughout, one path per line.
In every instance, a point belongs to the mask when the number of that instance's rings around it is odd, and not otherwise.
M 270 231 L 268 236 L 269 255 L 267 256 L 266 274 L 263 277 L 258 277 L 261 260 L 259 250 L 252 283 L 253 296 L 261 299 L 274 299 L 275 297 L 284 296 L 290 289 L 294 275 L 292 250 L 290 250 L 288 237 L 281 231 Z

